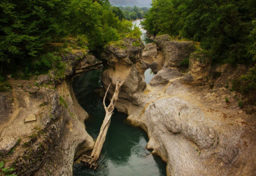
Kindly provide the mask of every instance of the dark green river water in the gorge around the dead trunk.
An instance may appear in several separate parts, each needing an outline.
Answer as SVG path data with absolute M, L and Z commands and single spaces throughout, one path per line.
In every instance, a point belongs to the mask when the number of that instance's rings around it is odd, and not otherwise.
M 102 88 L 102 70 L 84 73 L 73 81 L 73 90 L 80 105 L 89 113 L 85 122 L 87 132 L 96 139 L 104 119 L 102 98 L 95 90 Z M 75 176 L 162 176 L 166 175 L 166 164 L 160 157 L 146 149 L 147 134 L 140 128 L 130 126 L 127 115 L 114 111 L 106 141 L 98 161 L 99 168 L 92 170 L 75 163 Z

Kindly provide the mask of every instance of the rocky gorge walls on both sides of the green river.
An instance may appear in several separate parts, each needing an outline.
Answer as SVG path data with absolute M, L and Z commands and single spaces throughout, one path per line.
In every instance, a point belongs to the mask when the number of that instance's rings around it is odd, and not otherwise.
M 144 46 L 138 39 L 124 39 L 123 46 L 105 48 L 104 88 L 111 84 L 113 95 L 116 81 L 125 81 L 118 111 L 147 132 L 147 148 L 167 162 L 167 175 L 255 175 L 253 115 L 226 104 L 224 97 L 235 100 L 221 86 L 235 71 L 210 66 L 190 41 L 163 35 L 155 42 Z M 180 63 L 186 58 L 190 68 L 183 73 Z M 72 175 L 74 159 L 93 148 L 84 126 L 88 115 L 71 81 L 100 61 L 80 52 L 62 59 L 68 65 L 64 79 L 51 72 L 36 81 L 11 80 L 13 91 L 1 93 L 0 158 L 19 175 Z M 147 68 L 156 73 L 148 85 Z

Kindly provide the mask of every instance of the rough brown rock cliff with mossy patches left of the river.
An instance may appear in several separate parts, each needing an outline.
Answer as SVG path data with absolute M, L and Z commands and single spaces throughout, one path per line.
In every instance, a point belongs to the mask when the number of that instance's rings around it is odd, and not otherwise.
M 84 126 L 88 115 L 71 86 L 77 66 L 91 58 L 80 52 L 63 56 L 62 79 L 51 72 L 37 81 L 10 80 L 12 92 L 1 93 L 0 160 L 17 175 L 73 175 L 75 157 L 93 148 Z

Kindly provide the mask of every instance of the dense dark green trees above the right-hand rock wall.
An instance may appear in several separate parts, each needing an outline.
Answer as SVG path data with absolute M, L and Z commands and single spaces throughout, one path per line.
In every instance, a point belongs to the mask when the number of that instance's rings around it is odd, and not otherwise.
M 143 25 L 152 35 L 199 41 L 214 63 L 255 61 L 256 1 L 154 0 Z

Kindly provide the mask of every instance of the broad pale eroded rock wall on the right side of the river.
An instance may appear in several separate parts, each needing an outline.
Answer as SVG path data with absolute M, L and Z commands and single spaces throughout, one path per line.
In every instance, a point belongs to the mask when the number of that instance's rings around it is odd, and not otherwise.
M 102 82 L 107 88 L 117 79 L 125 80 L 116 108 L 147 132 L 147 148 L 167 162 L 167 175 L 255 175 L 253 116 L 237 104 L 226 104 L 226 96 L 232 101 L 226 88 L 209 90 L 209 64 L 195 59 L 193 43 L 161 36 L 156 37 L 156 46 L 153 59 L 143 54 L 147 57 L 134 62 L 129 49 L 120 57 L 118 48 L 107 47 L 104 58 L 109 67 Z M 137 49 L 139 56 L 143 47 Z M 146 64 L 149 61 L 161 64 L 159 57 L 163 67 L 158 66 L 161 70 L 145 86 L 141 70 L 152 66 Z M 187 57 L 193 63 L 183 74 L 179 63 Z

